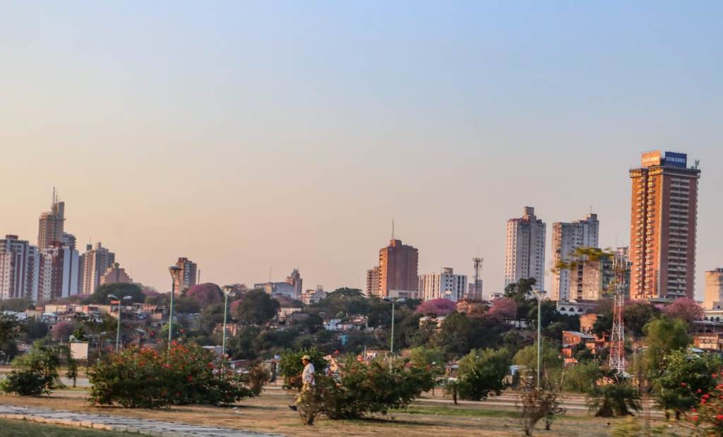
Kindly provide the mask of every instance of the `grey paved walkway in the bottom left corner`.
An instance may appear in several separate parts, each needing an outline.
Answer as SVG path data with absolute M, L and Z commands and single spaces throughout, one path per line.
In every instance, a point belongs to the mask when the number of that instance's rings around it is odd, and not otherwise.
M 159 422 L 111 415 L 95 415 L 42 408 L 16 407 L 0 404 L 0 417 L 5 419 L 30 420 L 56 425 L 70 425 L 82 428 L 113 430 L 125 433 L 139 433 L 155 437 L 269 437 L 271 434 L 254 433 L 231 428 L 186 425 L 184 423 Z

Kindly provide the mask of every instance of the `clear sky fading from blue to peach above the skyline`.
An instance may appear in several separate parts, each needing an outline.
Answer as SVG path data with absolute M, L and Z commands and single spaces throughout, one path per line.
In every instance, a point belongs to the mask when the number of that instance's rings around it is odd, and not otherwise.
M 396 237 L 419 272 L 502 289 L 505 221 L 589 211 L 627 245 L 643 150 L 699 159 L 696 296 L 723 266 L 716 1 L 0 3 L 0 234 L 53 187 L 135 281 L 364 287 Z M 549 284 L 549 279 L 547 281 Z

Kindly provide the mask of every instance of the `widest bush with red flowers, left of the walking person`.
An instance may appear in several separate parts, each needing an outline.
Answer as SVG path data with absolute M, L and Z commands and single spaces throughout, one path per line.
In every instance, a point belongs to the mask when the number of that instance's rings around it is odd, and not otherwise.
M 98 361 L 88 373 L 90 401 L 130 408 L 232 404 L 254 393 L 248 377 L 219 373 L 213 352 L 196 344 L 168 350 L 131 347 Z

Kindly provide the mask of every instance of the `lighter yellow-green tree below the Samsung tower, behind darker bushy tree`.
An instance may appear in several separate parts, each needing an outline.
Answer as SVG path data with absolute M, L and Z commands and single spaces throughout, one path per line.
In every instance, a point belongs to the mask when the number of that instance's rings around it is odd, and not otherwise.
M 685 350 L 690 344 L 688 323 L 680 319 L 671 320 L 662 317 L 646 324 L 644 331 L 648 347 L 645 351 L 648 376 L 651 380 L 655 380 L 664 370 L 665 355 L 676 350 Z

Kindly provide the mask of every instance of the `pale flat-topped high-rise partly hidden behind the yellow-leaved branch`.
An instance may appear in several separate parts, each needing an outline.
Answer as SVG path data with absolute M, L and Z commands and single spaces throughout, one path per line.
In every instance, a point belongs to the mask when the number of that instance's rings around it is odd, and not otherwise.
M 552 224 L 552 260 L 557 266 L 562 260 L 573 258 L 578 247 L 598 247 L 599 221 L 597 214 L 590 213 L 582 220 L 571 223 Z M 560 268 L 552 273 L 552 287 L 549 298 L 552 300 L 570 300 L 569 269 Z

